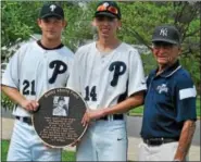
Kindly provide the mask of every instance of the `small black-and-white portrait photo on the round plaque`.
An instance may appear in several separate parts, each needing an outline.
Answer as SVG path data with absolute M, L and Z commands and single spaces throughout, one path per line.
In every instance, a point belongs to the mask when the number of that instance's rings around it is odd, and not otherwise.
M 70 97 L 55 96 L 53 98 L 52 115 L 67 116 L 68 115 Z

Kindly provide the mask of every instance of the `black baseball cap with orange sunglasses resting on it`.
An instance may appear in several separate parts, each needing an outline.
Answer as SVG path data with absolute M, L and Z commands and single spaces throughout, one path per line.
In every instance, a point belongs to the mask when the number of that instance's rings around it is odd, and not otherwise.
M 121 20 L 121 10 L 114 1 L 102 1 L 99 2 L 95 12 L 95 17 L 108 16 L 112 18 Z

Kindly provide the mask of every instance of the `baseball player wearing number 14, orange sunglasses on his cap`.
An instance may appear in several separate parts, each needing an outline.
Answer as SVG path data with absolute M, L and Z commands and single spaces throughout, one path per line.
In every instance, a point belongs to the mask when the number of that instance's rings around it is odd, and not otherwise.
M 143 102 L 147 88 L 140 57 L 116 36 L 121 10 L 114 1 L 100 2 L 92 23 L 96 42 L 80 47 L 67 86 L 87 101 L 83 119 L 89 127 L 77 142 L 77 161 L 127 161 L 126 116 Z

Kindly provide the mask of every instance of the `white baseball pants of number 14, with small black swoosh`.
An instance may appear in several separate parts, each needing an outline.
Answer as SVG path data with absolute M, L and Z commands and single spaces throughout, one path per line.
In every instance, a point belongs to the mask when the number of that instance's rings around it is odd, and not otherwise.
M 92 122 L 77 146 L 77 161 L 127 161 L 125 121 Z

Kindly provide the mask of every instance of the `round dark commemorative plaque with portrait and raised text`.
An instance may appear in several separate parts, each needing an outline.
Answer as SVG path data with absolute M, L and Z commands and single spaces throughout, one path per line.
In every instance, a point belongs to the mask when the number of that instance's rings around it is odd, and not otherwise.
M 81 125 L 87 104 L 77 92 L 68 88 L 54 88 L 38 102 L 33 125 L 46 145 L 63 148 L 81 138 L 87 129 Z

